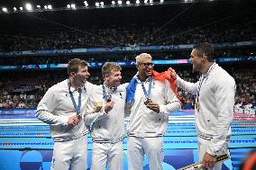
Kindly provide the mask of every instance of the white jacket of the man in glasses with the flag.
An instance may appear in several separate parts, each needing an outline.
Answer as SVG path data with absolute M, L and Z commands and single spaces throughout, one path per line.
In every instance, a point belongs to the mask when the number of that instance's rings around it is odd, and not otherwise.
M 134 76 L 137 78 L 136 76 Z M 149 89 L 149 78 L 144 83 L 146 91 Z M 144 104 L 145 94 L 142 83 L 137 79 L 134 103 L 131 109 L 127 133 L 134 137 L 162 137 L 168 127 L 169 113 L 180 109 L 177 96 L 170 88 L 169 82 L 153 80 L 151 87 L 151 100 L 160 105 L 160 113 L 153 112 Z

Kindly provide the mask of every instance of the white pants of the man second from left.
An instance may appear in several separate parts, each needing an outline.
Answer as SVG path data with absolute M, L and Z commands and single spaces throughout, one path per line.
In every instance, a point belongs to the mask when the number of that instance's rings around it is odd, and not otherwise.
M 92 170 L 123 170 L 123 142 L 93 143 Z M 84 168 L 85 169 L 85 168 Z

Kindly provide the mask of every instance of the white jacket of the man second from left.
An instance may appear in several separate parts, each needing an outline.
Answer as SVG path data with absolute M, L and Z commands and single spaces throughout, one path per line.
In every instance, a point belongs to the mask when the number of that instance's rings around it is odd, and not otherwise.
M 86 124 L 91 126 L 93 140 L 108 141 L 116 143 L 124 137 L 124 104 L 126 87 L 128 84 L 119 85 L 116 90 L 105 86 L 106 93 L 111 93 L 114 101 L 114 108 L 104 114 L 104 107 L 100 112 L 93 112 L 95 102 L 105 102 L 102 85 L 94 85 L 93 93 L 87 103 Z

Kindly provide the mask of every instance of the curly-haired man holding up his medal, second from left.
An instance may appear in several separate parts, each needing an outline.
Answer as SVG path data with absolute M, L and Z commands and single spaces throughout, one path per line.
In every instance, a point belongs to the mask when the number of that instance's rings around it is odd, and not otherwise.
M 93 139 L 92 170 L 123 170 L 124 104 L 127 84 L 120 85 L 121 67 L 107 62 L 102 67 L 103 85 L 94 86 L 85 121 Z M 96 105 L 104 103 L 98 112 Z M 99 104 L 100 105 L 100 104 Z

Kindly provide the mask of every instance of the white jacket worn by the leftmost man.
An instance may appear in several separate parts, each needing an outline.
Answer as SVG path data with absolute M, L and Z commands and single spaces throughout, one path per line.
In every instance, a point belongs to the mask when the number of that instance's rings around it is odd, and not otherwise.
M 86 83 L 82 88 L 81 94 L 81 113 L 85 112 L 89 92 L 91 92 L 90 83 Z M 78 91 L 70 87 L 76 103 L 78 104 Z M 50 124 L 50 134 L 54 141 L 66 141 L 78 139 L 88 133 L 88 128 L 83 121 L 74 127 L 68 126 L 69 117 L 76 115 L 75 107 L 69 95 L 68 79 L 53 85 L 44 94 L 41 102 L 38 104 L 36 117 Z

